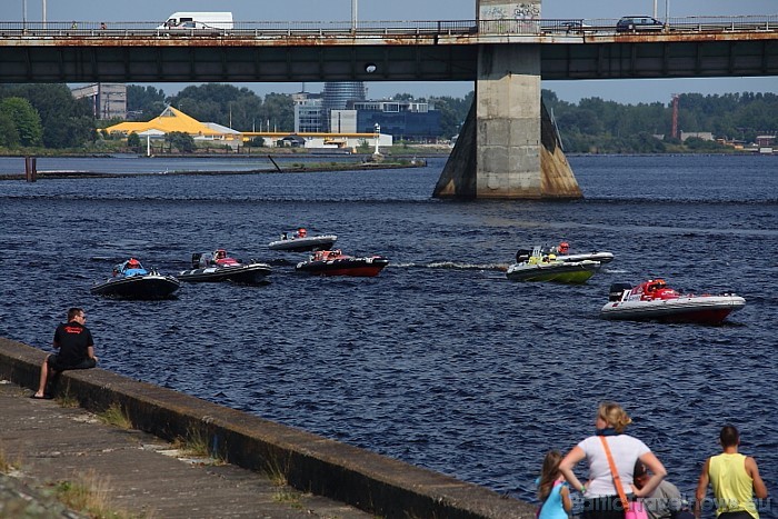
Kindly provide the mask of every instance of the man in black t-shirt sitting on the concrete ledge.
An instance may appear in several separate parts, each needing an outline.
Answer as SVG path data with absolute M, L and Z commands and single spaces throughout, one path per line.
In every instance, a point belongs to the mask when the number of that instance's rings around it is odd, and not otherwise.
M 68 322 L 62 322 L 54 331 L 53 347 L 58 353 L 47 355 L 40 367 L 38 391 L 32 398 L 51 398 L 46 392 L 50 375 L 68 369 L 90 369 L 97 366 L 94 340 L 86 327 L 87 313 L 82 308 L 68 309 Z

